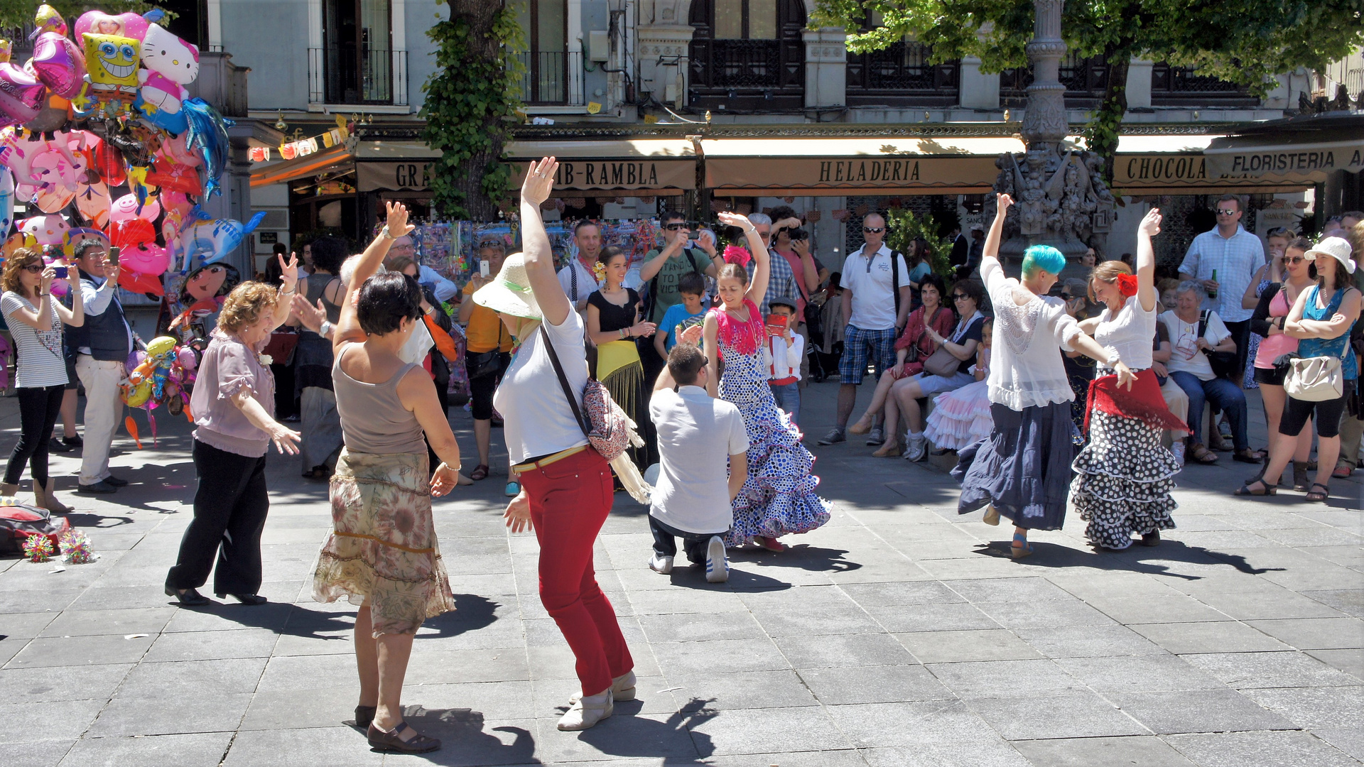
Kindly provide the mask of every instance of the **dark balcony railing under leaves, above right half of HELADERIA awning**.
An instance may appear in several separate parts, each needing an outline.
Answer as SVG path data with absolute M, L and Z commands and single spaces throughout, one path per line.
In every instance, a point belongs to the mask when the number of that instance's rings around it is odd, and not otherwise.
M 955 104 L 959 63 L 932 64 L 932 52 L 921 42 L 902 41 L 884 50 L 848 55 L 848 104 Z

